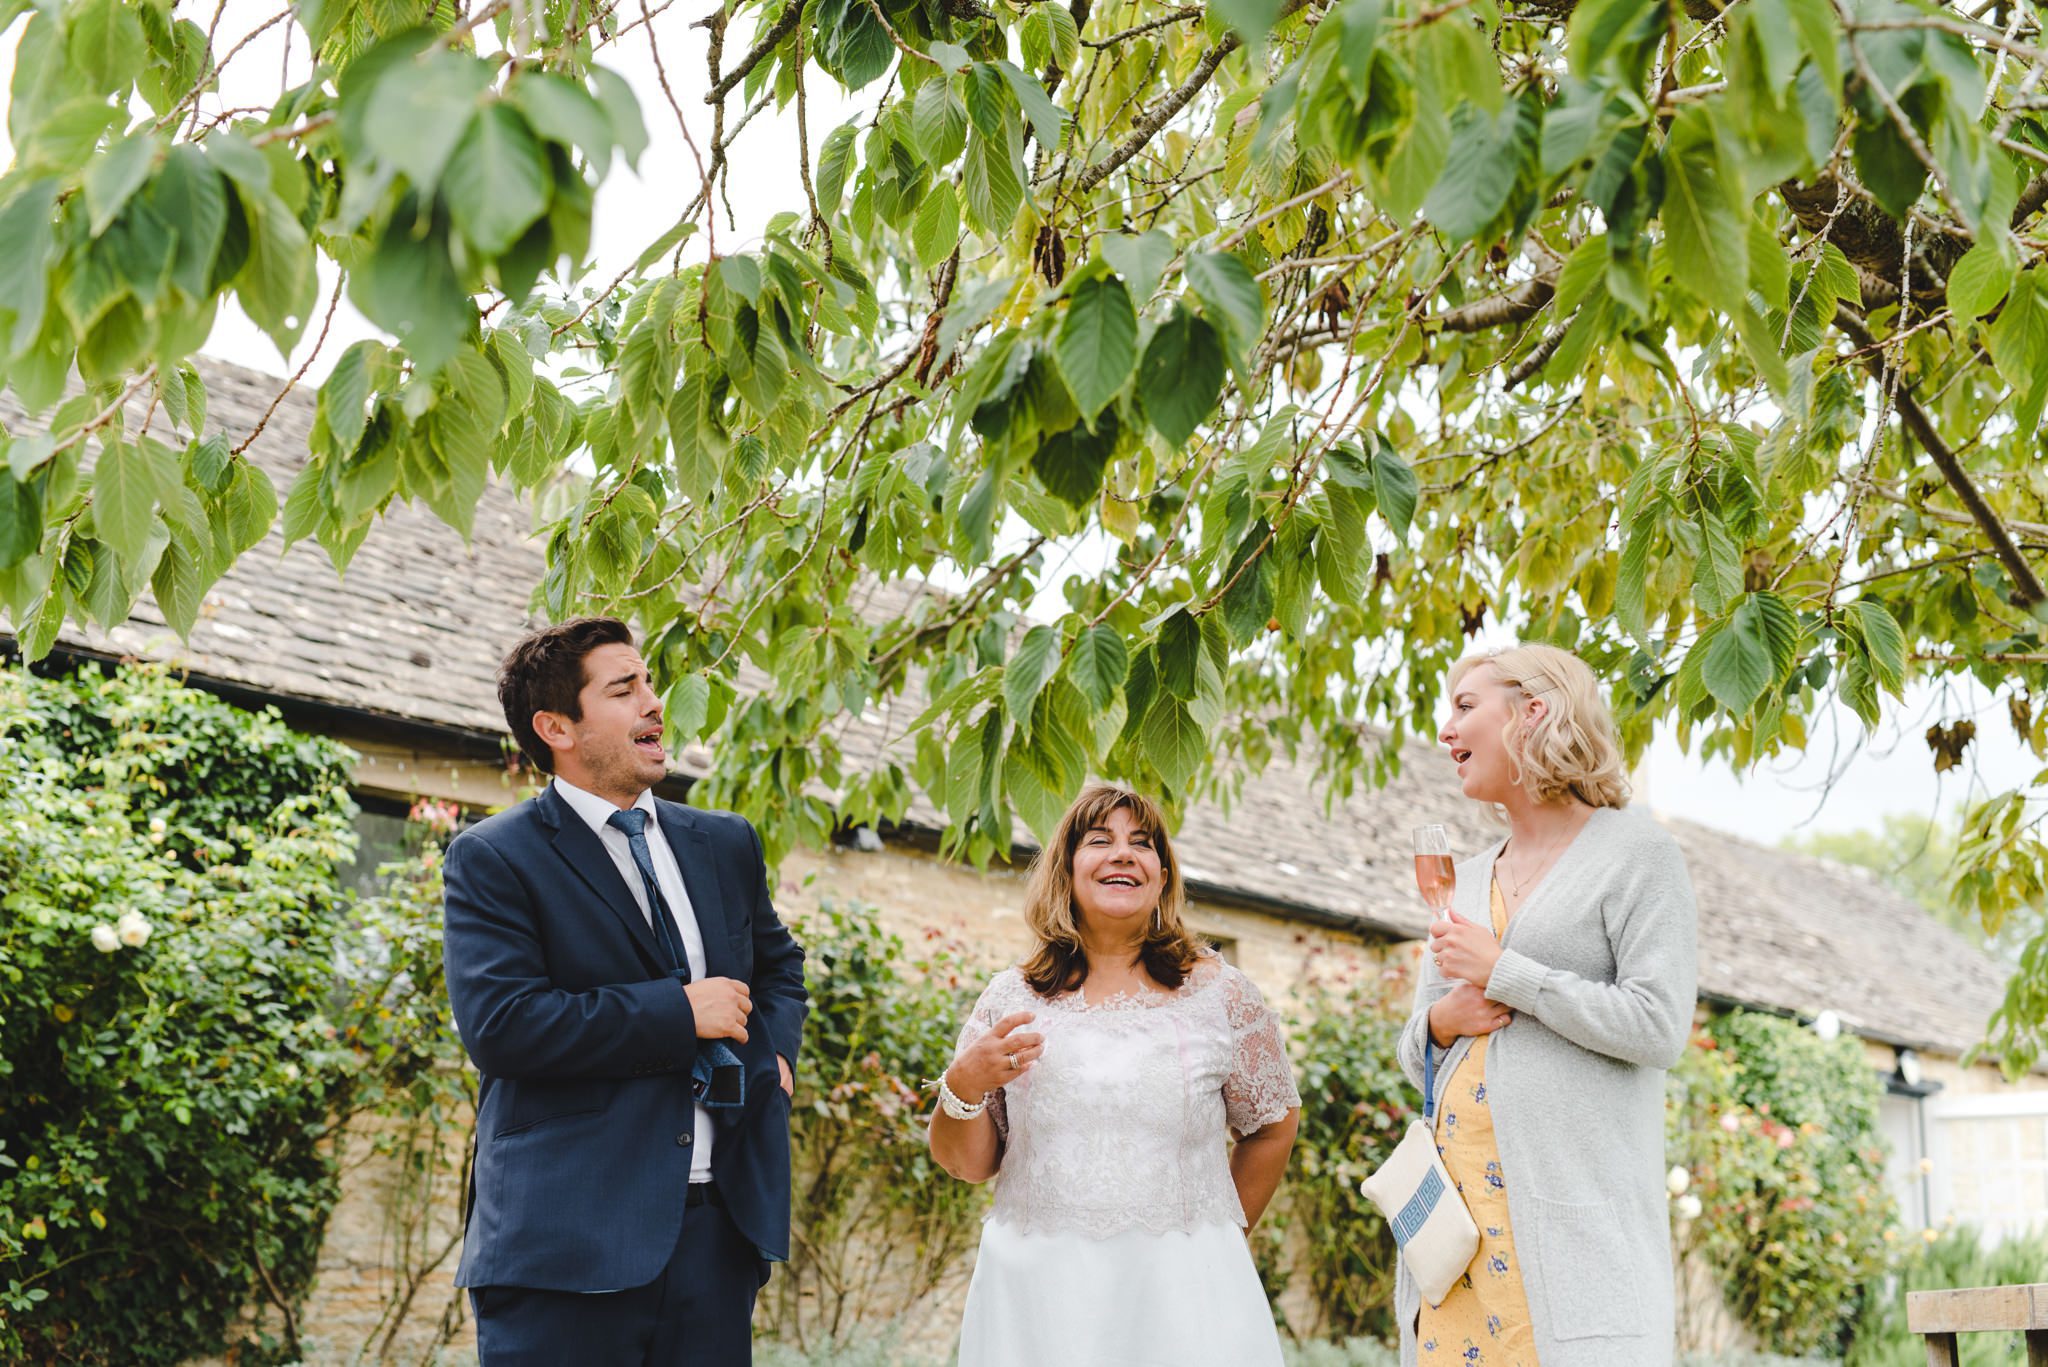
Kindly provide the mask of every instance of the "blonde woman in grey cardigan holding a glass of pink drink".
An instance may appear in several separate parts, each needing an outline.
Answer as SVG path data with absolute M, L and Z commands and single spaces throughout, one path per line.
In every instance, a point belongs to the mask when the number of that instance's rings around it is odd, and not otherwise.
M 1479 1226 L 1442 1306 L 1401 1275 L 1405 1367 L 1667 1367 L 1665 1070 L 1694 1010 L 1677 842 L 1624 812 L 1614 719 L 1552 646 L 1460 660 L 1440 736 L 1507 838 L 1458 867 L 1401 1066 L 1438 1051 L 1438 1150 Z

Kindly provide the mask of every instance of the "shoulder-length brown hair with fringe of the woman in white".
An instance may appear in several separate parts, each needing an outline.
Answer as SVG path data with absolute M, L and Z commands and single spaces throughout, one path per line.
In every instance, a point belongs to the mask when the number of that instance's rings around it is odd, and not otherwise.
M 1073 799 L 1067 814 L 1059 818 L 1059 830 L 1038 851 L 1032 861 L 1030 885 L 1024 889 L 1024 924 L 1030 926 L 1038 947 L 1024 959 L 1024 982 L 1038 996 L 1073 992 L 1087 978 L 1087 951 L 1081 947 L 1077 908 L 1073 906 L 1073 851 L 1081 846 L 1081 836 L 1108 824 L 1112 812 L 1128 812 L 1130 820 L 1151 836 L 1159 855 L 1159 873 L 1165 887 L 1159 892 L 1159 910 L 1145 926 L 1145 943 L 1139 947 L 1139 963 L 1163 988 L 1178 988 L 1194 969 L 1200 941 L 1182 920 L 1188 892 L 1180 877 L 1180 863 L 1174 859 L 1174 842 L 1165 834 L 1165 814 L 1151 797 L 1133 793 L 1114 783 L 1090 783 Z

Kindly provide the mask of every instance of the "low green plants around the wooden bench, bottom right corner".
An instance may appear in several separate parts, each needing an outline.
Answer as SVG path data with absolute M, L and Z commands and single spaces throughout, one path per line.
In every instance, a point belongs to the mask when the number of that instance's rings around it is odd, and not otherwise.
M 1896 1275 L 1874 1283 L 1864 1295 L 1864 1314 L 1855 1320 L 1845 1367 L 1921 1367 L 1927 1361 L 1927 1340 L 1907 1330 L 1909 1291 L 2048 1281 L 2048 1230 L 2009 1238 L 1993 1248 L 1985 1248 L 1968 1226 L 1937 1234 L 1933 1242 L 1913 1236 L 1901 1244 L 1905 1254 Z M 1964 1367 L 2025 1361 L 2019 1334 L 1958 1334 L 1956 1347 Z

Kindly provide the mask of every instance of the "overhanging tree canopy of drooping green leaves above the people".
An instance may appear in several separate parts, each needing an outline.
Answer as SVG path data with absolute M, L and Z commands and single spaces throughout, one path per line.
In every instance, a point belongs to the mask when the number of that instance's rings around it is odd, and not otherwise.
M 264 20 L 274 82 L 168 0 L 0 20 L 31 656 L 145 590 L 190 629 L 272 525 L 336 566 L 393 500 L 467 533 L 498 475 L 547 492 L 539 607 L 635 617 L 772 855 L 920 793 L 1006 853 L 1087 773 L 1309 750 L 1348 791 L 1481 623 L 1581 650 L 1632 752 L 1749 764 L 1974 678 L 2048 756 L 2036 0 L 319 0 Z M 590 271 L 670 117 L 688 203 Z M 745 242 L 735 166 L 782 174 Z M 291 348 L 322 268 L 385 336 L 322 359 L 281 490 L 190 357 L 229 303 Z M 926 576 L 965 590 L 874 596 Z M 1976 703 L 1929 697 L 1954 764 Z M 905 760 L 848 762 L 885 701 Z M 2048 887 L 2044 812 L 1966 818 L 1989 926 Z

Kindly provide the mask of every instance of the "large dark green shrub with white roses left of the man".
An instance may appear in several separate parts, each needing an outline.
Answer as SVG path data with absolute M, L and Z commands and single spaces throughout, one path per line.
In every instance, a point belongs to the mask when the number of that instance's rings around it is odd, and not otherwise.
M 297 1355 L 330 1142 L 453 1039 L 438 898 L 340 892 L 348 764 L 162 668 L 0 668 L 0 1359 Z

